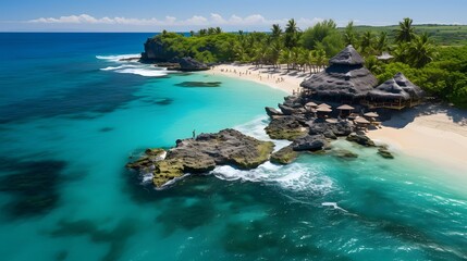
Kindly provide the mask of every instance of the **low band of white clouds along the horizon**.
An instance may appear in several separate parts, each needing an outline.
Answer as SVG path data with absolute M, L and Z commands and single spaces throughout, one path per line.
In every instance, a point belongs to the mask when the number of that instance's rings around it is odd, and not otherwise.
M 297 20 L 298 26 L 306 28 L 312 26 L 322 18 L 299 18 Z M 271 26 L 272 24 L 285 25 L 287 18 L 268 20 L 260 14 L 251 14 L 245 17 L 238 15 L 231 15 L 224 18 L 222 15 L 211 13 L 209 17 L 194 15 L 186 20 L 179 20 L 174 16 L 165 16 L 162 20 L 158 18 L 126 18 L 126 17 L 94 17 L 88 14 L 69 15 L 60 17 L 40 17 L 35 20 L 25 21 L 26 23 L 34 24 L 103 24 L 103 25 L 143 25 L 143 26 Z

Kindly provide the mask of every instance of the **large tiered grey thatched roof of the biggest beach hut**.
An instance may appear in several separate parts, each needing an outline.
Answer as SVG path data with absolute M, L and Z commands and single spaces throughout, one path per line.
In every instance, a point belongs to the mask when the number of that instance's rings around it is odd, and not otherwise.
M 323 72 L 312 75 L 300 86 L 323 100 L 353 101 L 365 97 L 378 79 L 364 66 L 364 59 L 347 46 L 330 61 Z

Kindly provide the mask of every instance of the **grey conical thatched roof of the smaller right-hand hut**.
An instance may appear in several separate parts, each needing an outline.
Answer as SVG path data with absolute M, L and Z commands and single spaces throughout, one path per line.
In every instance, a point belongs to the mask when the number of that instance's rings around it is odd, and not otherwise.
M 408 80 L 404 74 L 397 73 L 393 78 L 388 79 L 368 94 L 377 99 L 420 99 L 423 91 L 420 87 Z

